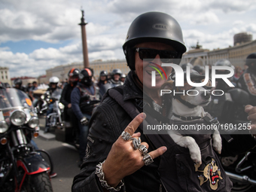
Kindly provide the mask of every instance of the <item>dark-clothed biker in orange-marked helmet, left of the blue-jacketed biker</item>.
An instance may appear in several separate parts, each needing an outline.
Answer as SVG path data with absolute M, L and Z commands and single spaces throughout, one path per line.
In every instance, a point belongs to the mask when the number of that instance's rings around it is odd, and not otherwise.
M 64 108 L 64 120 L 71 121 L 72 127 L 77 130 L 78 129 L 78 119 L 75 116 L 74 111 L 72 110 L 72 103 L 71 103 L 71 93 L 72 90 L 77 86 L 79 81 L 79 69 L 72 68 L 69 73 L 69 83 L 63 88 L 61 97 L 59 101 L 65 105 Z M 76 131 L 77 133 L 77 131 Z

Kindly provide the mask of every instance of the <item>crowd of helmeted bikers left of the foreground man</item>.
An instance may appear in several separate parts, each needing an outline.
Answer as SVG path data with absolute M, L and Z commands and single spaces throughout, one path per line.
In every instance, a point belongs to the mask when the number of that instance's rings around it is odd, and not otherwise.
M 71 69 L 68 73 L 68 81 L 60 84 L 59 78 L 51 77 L 46 92 L 52 96 L 54 93 L 61 93 L 59 102 L 65 108 L 62 117 L 66 121 L 72 123 L 72 127 L 76 132 L 76 139 L 79 143 L 80 162 L 85 155 L 85 148 L 87 146 L 88 122 L 90 120 L 93 108 L 100 102 L 102 96 L 111 87 L 122 85 L 126 75 L 120 69 L 114 69 L 108 73 L 102 71 L 99 73 L 99 80 L 95 81 L 93 69 Z M 39 96 L 34 91 L 38 90 L 38 83 L 36 81 L 27 86 L 23 85 L 20 78 L 14 80 L 14 87 L 27 93 L 32 100 L 34 106 L 37 105 Z M 47 106 L 46 116 L 53 112 L 53 104 Z M 50 125 L 48 118 L 45 120 L 44 133 L 49 133 Z

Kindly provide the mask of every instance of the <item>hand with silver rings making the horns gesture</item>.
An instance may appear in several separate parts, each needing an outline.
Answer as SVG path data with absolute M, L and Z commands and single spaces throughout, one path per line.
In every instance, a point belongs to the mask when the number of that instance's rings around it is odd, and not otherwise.
M 105 181 L 112 187 L 116 187 L 120 180 L 133 174 L 142 166 L 149 165 L 153 159 L 162 155 L 167 148 L 160 147 L 148 153 L 148 143 L 140 142 L 141 133 L 135 133 L 139 125 L 145 119 L 146 114 L 138 114 L 112 145 L 102 170 L 105 173 Z

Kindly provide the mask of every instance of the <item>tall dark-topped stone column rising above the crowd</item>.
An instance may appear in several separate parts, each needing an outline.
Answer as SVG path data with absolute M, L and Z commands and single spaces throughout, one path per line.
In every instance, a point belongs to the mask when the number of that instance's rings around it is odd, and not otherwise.
M 84 68 L 86 68 L 86 67 L 89 67 L 89 58 L 88 58 L 88 49 L 87 49 L 87 33 L 85 30 L 85 26 L 87 25 L 87 23 L 84 22 L 84 10 L 81 10 L 81 11 L 82 11 L 81 23 L 79 23 L 78 25 L 81 26 Z

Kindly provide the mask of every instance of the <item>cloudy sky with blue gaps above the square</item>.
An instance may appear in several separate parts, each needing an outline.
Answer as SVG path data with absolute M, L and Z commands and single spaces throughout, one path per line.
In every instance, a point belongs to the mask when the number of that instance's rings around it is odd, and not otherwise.
M 148 11 L 175 17 L 188 50 L 197 41 L 209 50 L 233 46 L 239 32 L 256 38 L 254 0 L 1 0 L 0 66 L 8 66 L 11 77 L 38 77 L 81 62 L 81 7 L 90 61 L 124 59 L 130 23 Z

